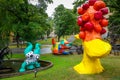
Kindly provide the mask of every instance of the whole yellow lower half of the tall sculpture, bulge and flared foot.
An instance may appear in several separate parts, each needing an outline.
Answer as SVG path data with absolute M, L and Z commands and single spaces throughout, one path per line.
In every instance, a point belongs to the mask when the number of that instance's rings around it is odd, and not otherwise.
M 103 72 L 99 58 L 109 54 L 111 46 L 100 40 L 95 39 L 83 43 L 84 54 L 80 64 L 74 66 L 75 71 L 80 74 L 96 74 Z

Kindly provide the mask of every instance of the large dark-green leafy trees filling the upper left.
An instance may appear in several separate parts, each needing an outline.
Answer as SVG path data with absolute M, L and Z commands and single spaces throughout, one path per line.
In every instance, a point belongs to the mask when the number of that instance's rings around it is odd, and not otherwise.
M 17 42 L 20 37 L 26 41 L 35 41 L 39 35 L 44 34 L 48 18 L 45 10 L 47 3 L 51 2 L 52 0 L 39 0 L 35 6 L 27 0 L 0 0 L 0 35 L 8 36 L 14 32 Z M 5 36 L 2 36 L 1 40 L 4 40 Z

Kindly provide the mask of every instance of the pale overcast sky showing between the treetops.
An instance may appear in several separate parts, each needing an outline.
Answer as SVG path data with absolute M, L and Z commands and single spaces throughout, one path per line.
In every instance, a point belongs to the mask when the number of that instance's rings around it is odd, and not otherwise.
M 53 0 L 52 4 L 48 4 L 48 8 L 47 8 L 46 12 L 48 13 L 48 16 L 52 16 L 54 9 L 60 4 L 63 4 L 64 7 L 68 8 L 68 9 L 73 9 L 72 3 L 74 1 L 75 0 Z

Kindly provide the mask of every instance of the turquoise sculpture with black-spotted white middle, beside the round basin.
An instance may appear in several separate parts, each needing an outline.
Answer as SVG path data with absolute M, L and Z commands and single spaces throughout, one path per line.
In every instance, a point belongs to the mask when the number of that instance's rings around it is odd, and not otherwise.
M 22 63 L 19 72 L 25 72 L 26 69 L 34 69 L 40 67 L 38 59 L 40 56 L 40 44 L 36 43 L 34 50 L 32 43 L 28 42 L 24 50 L 26 60 Z

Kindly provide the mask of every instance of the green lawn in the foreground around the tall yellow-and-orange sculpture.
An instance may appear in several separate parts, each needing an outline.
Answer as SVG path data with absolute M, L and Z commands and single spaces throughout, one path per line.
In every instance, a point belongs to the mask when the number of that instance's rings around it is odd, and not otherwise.
M 15 54 L 13 57 L 24 58 L 24 55 Z M 36 78 L 30 73 L 1 80 L 120 80 L 120 56 L 109 55 L 102 58 L 101 63 L 105 71 L 95 75 L 81 75 L 73 69 L 82 60 L 82 55 L 41 54 L 40 59 L 51 61 L 53 67 L 39 71 Z

